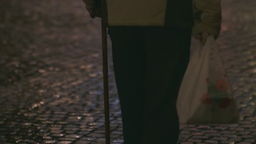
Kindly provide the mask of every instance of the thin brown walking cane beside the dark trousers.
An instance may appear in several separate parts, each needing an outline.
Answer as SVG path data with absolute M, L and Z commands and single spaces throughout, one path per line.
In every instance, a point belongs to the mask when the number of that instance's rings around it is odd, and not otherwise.
M 110 144 L 110 122 L 109 122 L 109 96 L 108 96 L 108 50 L 107 50 L 107 28 L 103 19 L 103 1 L 94 0 L 94 10 L 101 9 L 101 32 L 102 32 L 102 60 L 103 60 L 103 91 L 104 91 L 104 115 L 105 115 L 105 139 Z M 93 17 L 94 18 L 94 17 Z

